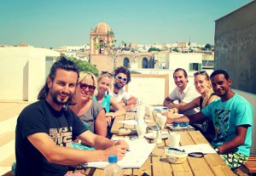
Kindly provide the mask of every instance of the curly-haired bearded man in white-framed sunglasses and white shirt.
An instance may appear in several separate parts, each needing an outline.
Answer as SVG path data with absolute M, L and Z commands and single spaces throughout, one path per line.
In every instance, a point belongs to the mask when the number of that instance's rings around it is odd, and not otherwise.
M 112 96 L 125 110 L 133 110 L 136 105 L 136 98 L 125 92 L 124 87 L 131 82 L 131 72 L 124 66 L 119 66 L 113 71 L 113 92 Z

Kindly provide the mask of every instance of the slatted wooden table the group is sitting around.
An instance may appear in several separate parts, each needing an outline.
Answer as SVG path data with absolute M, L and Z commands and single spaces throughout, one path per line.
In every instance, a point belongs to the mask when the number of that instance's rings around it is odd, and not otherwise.
M 116 117 L 113 122 L 112 133 L 118 133 L 119 128 L 134 128 L 134 125 L 126 125 L 119 123 L 119 121 L 134 119 L 135 113 L 129 112 L 125 116 Z M 145 119 L 154 120 L 154 116 L 146 117 Z M 155 125 L 155 122 L 149 122 L 149 126 Z M 167 129 L 165 129 L 167 130 Z M 193 145 L 208 143 L 207 139 L 199 131 L 185 131 L 181 133 L 180 145 Z M 114 134 L 113 136 L 116 136 Z M 125 138 L 125 137 L 124 137 Z M 142 175 L 147 173 L 152 176 L 170 175 L 170 176 L 184 176 L 184 175 L 235 175 L 229 167 L 225 165 L 218 154 L 207 154 L 202 158 L 188 157 L 186 162 L 182 164 L 171 164 L 167 161 L 164 147 L 167 140 L 163 140 L 162 144 L 156 145 L 152 151 L 151 156 L 143 164 L 141 168 L 125 168 L 126 175 Z M 87 168 L 85 174 L 100 176 L 103 175 L 103 170 L 99 168 Z

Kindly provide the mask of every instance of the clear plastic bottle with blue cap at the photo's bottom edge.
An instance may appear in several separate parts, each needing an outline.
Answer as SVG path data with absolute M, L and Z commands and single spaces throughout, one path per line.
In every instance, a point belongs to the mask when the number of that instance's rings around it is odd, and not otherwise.
M 108 156 L 108 166 L 104 169 L 104 176 L 122 176 L 124 171 L 117 164 L 117 156 Z

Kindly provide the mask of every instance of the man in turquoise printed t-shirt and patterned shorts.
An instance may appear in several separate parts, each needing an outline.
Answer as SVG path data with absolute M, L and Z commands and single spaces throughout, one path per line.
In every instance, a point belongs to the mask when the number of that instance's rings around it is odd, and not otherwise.
M 220 99 L 192 116 L 168 118 L 167 122 L 203 122 L 212 119 L 215 138 L 212 146 L 224 162 L 235 171 L 247 162 L 252 145 L 253 107 L 231 89 L 232 81 L 224 70 L 213 71 L 212 88 Z

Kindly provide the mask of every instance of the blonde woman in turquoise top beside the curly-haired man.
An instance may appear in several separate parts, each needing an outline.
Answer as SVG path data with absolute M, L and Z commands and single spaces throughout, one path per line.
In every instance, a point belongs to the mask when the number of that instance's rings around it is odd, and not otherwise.
M 126 113 L 125 108 L 119 105 L 116 99 L 108 94 L 108 90 L 112 88 L 112 85 L 113 75 L 108 71 L 102 71 L 102 74 L 97 79 L 98 94 L 93 98 L 105 107 L 108 124 L 111 124 L 111 120 L 113 120 L 115 116 L 122 116 Z M 116 111 L 109 112 L 110 106 L 112 106 Z

